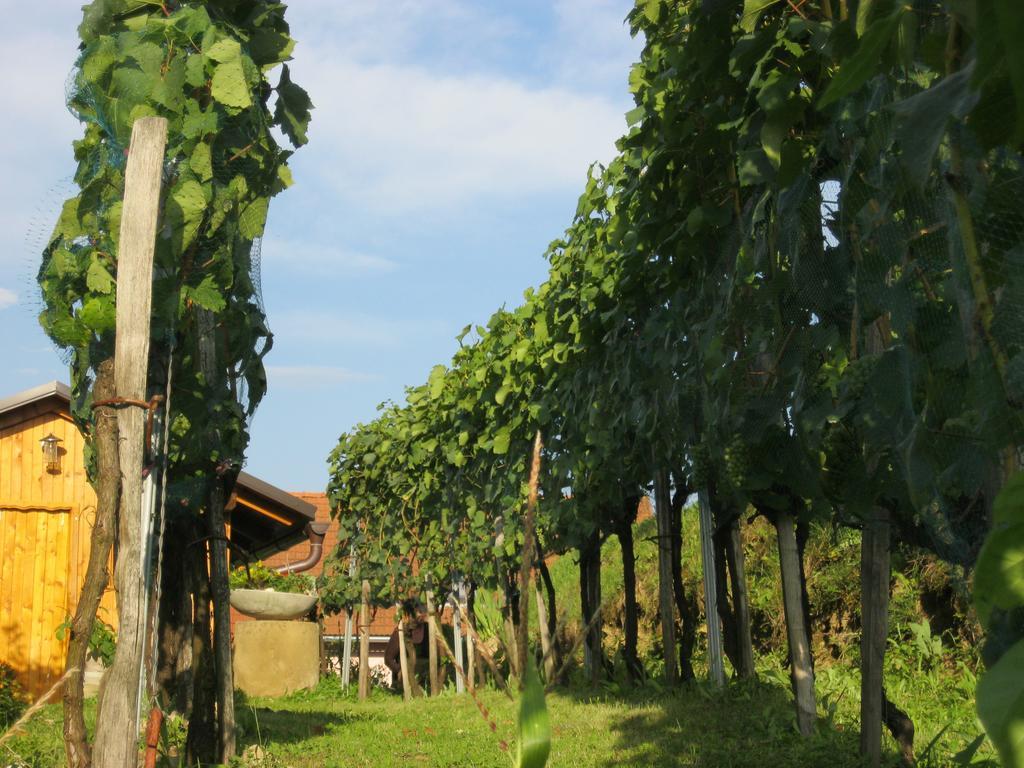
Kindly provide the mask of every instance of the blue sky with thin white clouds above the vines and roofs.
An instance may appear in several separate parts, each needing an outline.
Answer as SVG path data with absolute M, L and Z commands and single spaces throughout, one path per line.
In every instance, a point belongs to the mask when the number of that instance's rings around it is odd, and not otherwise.
M 75 0 L 0 0 L 0 397 L 68 381 L 39 329 L 39 252 L 73 195 Z M 323 490 L 339 435 L 446 364 L 456 335 L 543 282 L 587 169 L 614 156 L 640 41 L 629 0 L 294 0 L 313 100 L 270 205 L 274 345 L 246 470 Z

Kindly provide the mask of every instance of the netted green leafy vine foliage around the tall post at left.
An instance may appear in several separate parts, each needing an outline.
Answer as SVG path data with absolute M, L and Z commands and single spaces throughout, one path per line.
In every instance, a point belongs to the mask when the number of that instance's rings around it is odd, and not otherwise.
M 266 392 L 261 245 L 270 198 L 291 183 L 291 151 L 274 132 L 305 143 L 311 109 L 285 63 L 294 41 L 284 12 L 273 0 L 93 3 L 66 87 L 83 125 L 78 189 L 43 248 L 40 319 L 71 362 L 73 411 L 85 426 L 96 367 L 113 355 L 132 126 L 166 119 L 148 380 L 163 393 L 173 376 L 173 463 L 189 505 L 211 467 L 242 465 Z

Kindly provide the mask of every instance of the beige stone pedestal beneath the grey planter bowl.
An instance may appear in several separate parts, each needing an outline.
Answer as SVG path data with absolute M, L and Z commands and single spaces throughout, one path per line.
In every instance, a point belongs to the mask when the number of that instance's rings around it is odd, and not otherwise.
M 234 687 L 248 696 L 282 696 L 319 680 L 319 628 L 312 622 L 234 625 Z

